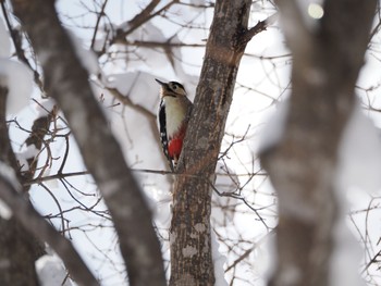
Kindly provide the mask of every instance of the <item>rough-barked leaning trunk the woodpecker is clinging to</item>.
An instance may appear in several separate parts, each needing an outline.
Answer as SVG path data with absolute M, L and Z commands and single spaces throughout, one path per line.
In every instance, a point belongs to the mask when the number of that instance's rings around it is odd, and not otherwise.
M 241 58 L 249 0 L 216 2 L 194 111 L 177 166 L 170 285 L 213 285 L 210 200 L 213 173 Z

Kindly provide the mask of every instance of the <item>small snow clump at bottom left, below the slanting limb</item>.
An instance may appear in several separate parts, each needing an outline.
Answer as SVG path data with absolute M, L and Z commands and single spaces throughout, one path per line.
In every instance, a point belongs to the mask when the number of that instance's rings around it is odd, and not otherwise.
M 66 276 L 66 270 L 61 259 L 57 256 L 44 256 L 36 261 L 35 266 L 41 286 L 73 285 Z

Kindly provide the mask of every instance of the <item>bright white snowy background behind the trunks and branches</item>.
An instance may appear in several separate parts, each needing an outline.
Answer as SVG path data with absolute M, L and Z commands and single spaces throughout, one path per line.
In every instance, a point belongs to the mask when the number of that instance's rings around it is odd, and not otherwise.
M 127 29 L 131 20 L 149 1 L 109 1 L 102 18 L 95 49 L 103 47 L 110 30 Z M 162 1 L 162 8 L 169 1 Z M 208 1 L 194 0 L 184 3 L 202 4 Z M 305 1 L 306 17 L 319 16 L 318 3 L 310 7 Z M 160 9 L 159 8 L 159 9 Z M 161 48 L 111 47 L 108 53 L 99 58 L 89 51 L 93 29 L 99 11 L 98 1 L 57 1 L 60 18 L 70 30 L 83 64 L 87 67 L 95 96 L 105 107 L 110 127 L 119 139 L 130 166 L 135 170 L 142 187 L 149 198 L 155 213 L 156 225 L 163 237 L 164 259 L 169 259 L 168 234 L 170 222 L 170 186 L 172 178 L 161 174 L 151 174 L 144 170 L 165 170 L 167 163 L 161 156 L 156 128 L 156 109 L 158 108 L 158 85 L 153 80 L 177 80 L 184 83 L 189 98 L 194 98 L 197 78 L 200 72 L 204 48 L 184 47 L 173 50 L 173 63 Z M 262 21 L 275 12 L 271 4 L 262 1 L 253 4 L 250 25 Z M 310 13 L 310 14 L 308 14 Z M 167 13 L 168 18 L 155 17 L 137 28 L 130 41 L 167 41 L 204 45 L 208 37 L 208 27 L 212 9 L 199 10 L 188 5 L 173 5 Z M 312 18 L 309 18 L 314 23 Z M 14 22 L 13 20 L 13 23 Z M 180 27 L 177 23 L 185 25 Z M 193 28 L 190 28 L 190 24 Z M 359 108 L 354 113 L 343 137 L 337 169 L 337 195 L 343 202 L 342 221 L 336 227 L 336 238 L 342 247 L 332 261 L 332 285 L 357 285 L 349 269 L 362 272 L 369 285 L 380 285 L 377 275 L 378 265 L 366 265 L 381 251 L 379 238 L 380 224 L 380 185 L 381 185 L 381 125 L 380 97 L 380 37 L 376 36 L 361 71 L 358 88 Z M 10 88 L 9 120 L 16 120 L 25 129 L 33 121 L 51 110 L 54 102 L 42 99 L 38 88 L 32 83 L 32 73 L 19 63 L 14 49 L 0 16 L 0 83 Z M 236 91 L 226 124 L 226 136 L 221 151 L 229 148 L 229 154 L 219 163 L 217 188 L 220 192 L 233 192 L 234 197 L 213 198 L 212 222 L 213 258 L 218 277 L 217 285 L 265 285 L 271 254 L 267 245 L 271 245 L 273 227 L 276 224 L 276 199 L 270 183 L 263 176 L 257 151 L 259 141 L 265 138 L 271 144 L 281 136 L 282 117 L 286 107 L 279 107 L 280 100 L 290 92 L 290 52 L 284 46 L 278 24 L 257 35 L 248 45 L 242 60 Z M 110 92 L 113 90 L 113 92 Z M 119 98 L 115 98 L 115 92 Z M 124 97 L 124 98 L 121 98 Z M 38 102 L 38 103 L 36 103 Z M 123 104 L 124 103 L 124 104 Z M 370 105 L 372 109 L 370 109 Z M 282 111 L 282 109 L 284 109 Z M 268 119 L 275 114 L 276 119 Z M 62 116 L 62 114 L 59 114 Z M 57 121 L 61 135 L 69 133 L 64 120 Z M 262 135 L 265 126 L 265 134 Z M 14 151 L 21 162 L 36 154 L 33 148 L 23 145 L 27 133 L 14 123 L 10 124 L 10 134 Z M 263 139 L 262 139 L 263 140 Z M 72 136 L 69 137 L 70 152 L 63 173 L 84 171 L 81 156 Z M 38 175 L 53 175 L 60 170 L 66 142 L 57 137 L 50 144 L 54 160 Z M 107 147 L 105 147 L 107 148 Z M 47 150 L 39 156 L 40 166 L 46 165 Z M 226 173 L 234 175 L 226 175 Z M 256 175 L 253 175 L 256 174 Z M 84 260 L 88 263 L 101 285 L 124 285 L 125 271 L 118 250 L 112 223 L 108 220 L 93 179 L 78 175 L 62 181 L 46 181 L 33 185 L 30 197 L 34 206 L 42 215 L 50 217 L 58 229 L 71 238 Z M 246 203 L 245 203 L 246 202 Z M 1 204 L 0 204 L 1 206 Z M 91 212 L 87 211 L 91 208 Z M 2 209 L 0 207 L 0 209 Z M 1 213 L 1 212 L 0 212 Z M 63 213 L 63 215 L 61 215 Z M 348 214 L 349 213 L 349 214 Z M 352 234 L 349 234 L 351 229 Z M 348 257 L 354 241 L 360 241 L 356 257 Z M 219 244 L 217 243 L 219 241 Z M 355 248 L 357 245 L 355 244 Z M 361 251 L 362 249 L 362 251 Z M 270 248 L 271 250 L 271 248 Z M 271 252 L 271 251 L 270 251 Z M 351 252 L 351 251 L 349 251 Z M 244 259 L 241 258 L 244 256 Z M 358 263 L 360 260 L 362 262 Z M 345 262 L 345 263 L 344 263 Z M 62 264 L 54 253 L 49 253 L 36 263 L 42 285 L 72 285 L 62 272 Z M 221 273 L 226 270 L 224 274 Z M 353 272 L 355 273 L 355 272 Z M 348 278 L 347 283 L 343 278 Z

